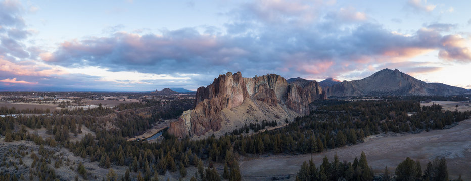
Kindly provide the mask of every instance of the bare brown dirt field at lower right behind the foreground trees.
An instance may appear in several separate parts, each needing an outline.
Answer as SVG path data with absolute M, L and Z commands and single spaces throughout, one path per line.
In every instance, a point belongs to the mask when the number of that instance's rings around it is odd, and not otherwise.
M 324 156 L 332 161 L 337 152 L 340 160 L 353 162 L 362 151 L 376 173 L 383 172 L 385 166 L 394 173 L 396 166 L 406 157 L 419 160 L 425 169 L 429 161 L 443 156 L 451 179 L 461 175 L 463 180 L 471 180 L 471 119 L 445 130 L 398 136 L 375 135 L 361 144 L 312 154 L 312 159 L 319 166 Z M 302 163 L 310 158 L 311 155 L 262 155 L 258 158 L 242 157 L 239 163 L 244 180 L 271 180 L 274 176 L 290 176 L 289 180 L 294 180 Z

